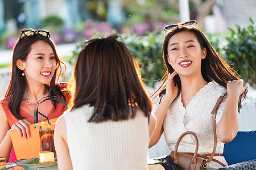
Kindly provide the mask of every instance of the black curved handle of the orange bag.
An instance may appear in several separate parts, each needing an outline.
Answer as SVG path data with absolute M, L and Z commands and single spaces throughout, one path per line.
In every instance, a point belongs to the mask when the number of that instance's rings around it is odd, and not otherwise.
M 38 114 L 40 114 L 41 116 L 45 117 L 47 119 L 47 121 L 48 121 L 48 124 L 49 124 L 49 118 L 38 111 L 38 107 L 39 107 L 40 103 L 42 103 L 43 101 L 46 101 L 46 100 L 59 101 L 60 103 L 62 103 L 64 105 L 64 107 L 68 108 L 68 104 L 63 99 L 61 99 L 60 97 L 57 97 L 57 96 L 46 96 L 46 97 L 43 97 L 35 105 L 35 109 L 34 109 L 34 124 L 38 123 Z

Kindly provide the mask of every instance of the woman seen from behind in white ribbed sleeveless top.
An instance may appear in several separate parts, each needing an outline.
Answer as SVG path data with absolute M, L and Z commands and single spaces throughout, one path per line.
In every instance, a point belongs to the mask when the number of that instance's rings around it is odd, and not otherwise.
M 151 100 L 118 37 L 87 41 L 77 58 L 73 107 L 55 129 L 59 169 L 147 169 Z

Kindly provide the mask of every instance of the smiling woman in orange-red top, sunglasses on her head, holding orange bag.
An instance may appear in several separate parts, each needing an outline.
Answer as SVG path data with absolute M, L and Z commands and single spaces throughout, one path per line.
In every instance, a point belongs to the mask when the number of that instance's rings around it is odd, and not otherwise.
M 30 137 L 28 125 L 34 122 L 35 104 L 42 97 L 59 96 L 69 100 L 66 84 L 56 83 L 62 62 L 49 36 L 46 30 L 26 29 L 15 45 L 11 80 L 0 105 L 0 155 L 5 156 L 6 162 L 16 160 L 10 131 L 17 130 L 24 139 Z M 59 117 L 64 111 L 63 104 L 55 101 L 40 104 L 40 112 L 49 119 Z M 39 116 L 39 121 L 44 120 Z

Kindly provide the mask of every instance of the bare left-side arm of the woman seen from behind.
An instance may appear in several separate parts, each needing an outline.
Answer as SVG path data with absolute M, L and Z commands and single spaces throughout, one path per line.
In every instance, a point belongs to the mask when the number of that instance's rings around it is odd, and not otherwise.
M 56 122 L 54 145 L 57 154 L 58 168 L 61 170 L 71 170 L 72 163 L 69 156 L 67 144 L 67 128 L 64 116 L 61 116 Z

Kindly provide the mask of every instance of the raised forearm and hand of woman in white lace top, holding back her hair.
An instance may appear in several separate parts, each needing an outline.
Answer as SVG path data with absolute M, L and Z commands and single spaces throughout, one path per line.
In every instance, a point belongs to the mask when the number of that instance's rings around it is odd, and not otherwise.
M 233 80 L 227 83 L 227 99 L 221 120 L 217 124 L 217 136 L 221 142 L 231 142 L 238 131 L 238 101 L 243 91 L 248 86 L 243 86 L 243 80 Z

